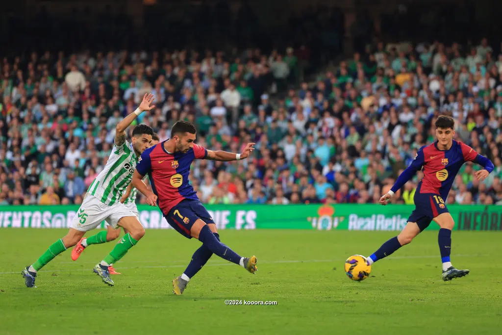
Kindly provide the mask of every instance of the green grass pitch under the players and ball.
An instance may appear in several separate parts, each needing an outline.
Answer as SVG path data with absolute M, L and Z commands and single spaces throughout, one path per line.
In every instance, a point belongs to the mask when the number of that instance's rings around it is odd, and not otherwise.
M 49 263 L 37 288 L 21 270 L 65 230 L 0 229 L 0 334 L 464 334 L 500 333 L 500 233 L 453 232 L 452 262 L 471 273 L 440 279 L 437 231 L 373 265 L 352 282 L 353 254 L 369 255 L 395 232 L 221 231 L 222 242 L 258 257 L 258 274 L 213 256 L 182 296 L 172 279 L 199 242 L 148 230 L 116 269 L 114 287 L 92 267 L 114 242 Z M 92 233 L 91 233 L 92 234 Z M 277 305 L 225 305 L 226 299 Z

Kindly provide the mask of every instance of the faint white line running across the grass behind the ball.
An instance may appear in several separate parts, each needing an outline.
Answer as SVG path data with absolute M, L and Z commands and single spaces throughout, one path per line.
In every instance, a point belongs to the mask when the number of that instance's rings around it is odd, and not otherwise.
M 454 255 L 453 257 L 481 257 L 482 255 Z M 486 256 L 486 255 L 484 255 Z M 386 257 L 387 259 L 427 259 L 427 258 L 437 258 L 438 260 L 440 259 L 439 256 L 395 256 L 395 257 Z M 260 264 L 284 264 L 284 263 L 328 263 L 328 262 L 343 262 L 344 260 L 338 259 L 338 260 L 319 260 L 319 259 L 313 259 L 313 260 L 285 260 L 285 261 L 261 261 Z M 132 262 L 128 262 L 132 263 Z M 140 262 L 144 263 L 144 262 Z M 59 264 L 59 263 L 58 263 Z M 157 265 L 157 266 L 133 266 L 133 267 L 118 267 L 117 269 L 119 270 L 126 270 L 126 269 L 167 269 L 167 268 L 185 268 L 188 264 L 183 264 L 183 265 Z M 211 264 L 206 264 L 204 267 L 207 266 L 228 266 L 228 265 L 235 265 L 233 263 L 211 263 Z M 68 270 L 40 270 L 38 272 L 52 272 L 52 273 L 58 273 L 58 272 L 73 272 L 73 271 L 91 271 L 92 269 L 68 269 Z M 16 272 L 0 272 L 0 275 L 13 275 L 13 274 L 20 274 L 21 271 L 16 271 Z

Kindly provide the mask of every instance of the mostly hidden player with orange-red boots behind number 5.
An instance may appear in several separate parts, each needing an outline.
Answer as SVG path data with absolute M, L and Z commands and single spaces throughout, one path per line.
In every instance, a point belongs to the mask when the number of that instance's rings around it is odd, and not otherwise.
M 157 145 L 159 141 L 160 141 L 159 135 L 154 133 L 154 135 L 152 136 L 152 142 L 150 142 L 150 147 Z M 145 179 L 146 178 L 147 177 L 145 177 Z M 136 215 L 138 219 L 140 219 L 140 213 L 138 212 L 138 207 L 136 206 L 137 196 L 138 196 L 138 190 L 136 188 L 133 188 L 133 183 L 129 183 L 129 186 L 126 188 L 126 192 L 122 194 L 119 201 L 124 205 L 126 205 L 127 208 L 131 209 L 133 214 Z M 112 226 L 108 224 L 106 224 L 106 226 L 107 226 L 106 232 L 101 231 L 96 235 L 80 240 L 80 242 L 78 242 L 77 245 L 71 251 L 71 259 L 76 261 L 80 257 L 84 249 L 92 244 L 101 244 L 105 242 L 110 242 L 117 239 L 120 236 L 120 227 L 114 229 Z M 124 229 L 124 233 L 127 234 L 128 232 Z M 115 262 L 116 261 L 118 261 L 118 259 L 115 260 Z M 110 273 L 110 275 L 120 274 L 120 272 L 117 272 L 113 268 L 112 263 L 110 263 L 110 265 L 108 266 L 108 272 Z

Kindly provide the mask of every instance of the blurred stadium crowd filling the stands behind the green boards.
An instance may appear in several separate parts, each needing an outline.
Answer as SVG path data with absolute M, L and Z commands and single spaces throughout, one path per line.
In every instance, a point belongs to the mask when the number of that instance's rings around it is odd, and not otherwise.
M 4 58 L 0 204 L 80 203 L 106 164 L 115 125 L 145 92 L 157 107 L 138 122 L 161 141 L 187 120 L 208 149 L 256 143 L 248 160 L 194 163 L 190 182 L 205 203 L 376 203 L 448 114 L 455 139 L 495 170 L 479 183 L 479 167 L 465 164 L 447 203 L 502 204 L 502 54 L 486 39 L 378 43 L 313 83 L 301 80 L 308 61 L 306 47 Z M 420 178 L 393 201 L 413 203 Z

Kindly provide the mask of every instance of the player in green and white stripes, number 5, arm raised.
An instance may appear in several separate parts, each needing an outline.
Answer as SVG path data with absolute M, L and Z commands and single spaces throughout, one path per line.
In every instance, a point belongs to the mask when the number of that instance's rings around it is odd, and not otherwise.
M 27 287 L 36 287 L 37 271 L 53 260 L 66 249 L 75 246 L 86 232 L 98 227 L 105 220 L 113 228 L 120 226 L 127 230 L 111 253 L 98 263 L 93 271 L 101 277 L 105 284 L 113 286 L 108 266 L 125 255 L 145 235 L 145 230 L 135 214 L 121 203 L 120 197 L 131 182 L 133 173 L 141 154 L 150 146 L 154 131 L 147 125 L 139 125 L 133 130 L 133 141 L 126 141 L 126 129 L 143 111 L 151 110 L 154 95 L 145 94 L 140 106 L 115 128 L 115 139 L 108 162 L 89 186 L 87 193 L 73 218 L 68 234 L 54 242 L 38 260 L 22 271 Z M 100 235 L 101 234 L 101 235 Z M 106 242 L 106 232 L 87 240 L 88 244 Z

